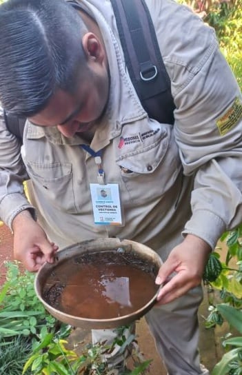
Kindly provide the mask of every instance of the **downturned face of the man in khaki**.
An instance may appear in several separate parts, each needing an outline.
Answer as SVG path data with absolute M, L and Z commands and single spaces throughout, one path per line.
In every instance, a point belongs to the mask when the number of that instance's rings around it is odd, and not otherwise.
M 44 110 L 29 118 L 30 122 L 57 126 L 66 137 L 91 130 L 108 101 L 108 71 L 104 66 L 90 65 L 81 77 L 75 94 L 58 90 Z

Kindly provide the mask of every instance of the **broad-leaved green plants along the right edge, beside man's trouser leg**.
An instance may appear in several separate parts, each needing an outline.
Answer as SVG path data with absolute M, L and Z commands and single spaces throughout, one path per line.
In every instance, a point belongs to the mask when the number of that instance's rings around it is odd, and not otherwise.
M 208 287 L 219 290 L 223 303 L 210 300 L 210 314 L 205 324 L 206 327 L 214 327 L 227 322 L 233 330 L 242 334 L 242 225 L 225 232 L 221 242 L 226 245 L 225 261 L 220 261 L 218 252 L 211 254 L 204 279 Z M 219 250 L 220 247 L 217 248 Z M 225 335 L 222 345 L 226 352 L 215 365 L 212 375 L 242 374 L 242 337 L 230 336 L 230 332 Z

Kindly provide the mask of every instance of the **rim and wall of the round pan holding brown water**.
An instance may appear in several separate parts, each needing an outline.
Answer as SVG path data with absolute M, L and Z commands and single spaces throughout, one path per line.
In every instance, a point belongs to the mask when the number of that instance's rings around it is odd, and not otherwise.
M 50 303 L 46 302 L 46 299 L 43 298 L 43 290 L 46 284 L 46 280 L 50 277 L 51 274 L 54 273 L 55 268 L 65 262 L 70 261 L 72 258 L 80 256 L 81 254 L 90 254 L 93 252 L 132 252 L 136 256 L 139 256 L 140 259 L 145 261 L 146 263 L 150 263 L 152 270 L 154 272 L 158 272 L 159 267 L 161 267 L 162 261 L 159 255 L 147 247 L 142 245 L 141 243 L 137 243 L 130 240 L 120 240 L 120 239 L 95 239 L 90 241 L 84 241 L 80 243 L 76 243 L 69 247 L 65 247 L 63 250 L 59 250 L 55 256 L 54 263 L 45 263 L 37 272 L 37 276 L 34 281 L 34 289 L 35 292 L 46 307 L 46 310 L 57 318 L 59 321 L 63 323 L 68 323 L 74 327 L 81 327 L 85 329 L 108 329 L 108 328 L 116 328 L 121 325 L 128 325 L 133 321 L 141 318 L 141 316 L 145 315 L 152 306 L 157 301 L 157 292 L 154 296 L 145 303 L 143 307 L 139 308 L 139 310 L 132 312 L 131 314 L 118 316 L 117 318 L 107 318 L 107 319 L 93 319 L 93 318 L 83 318 L 81 316 L 72 316 L 70 314 L 66 314 L 56 308 L 52 307 Z

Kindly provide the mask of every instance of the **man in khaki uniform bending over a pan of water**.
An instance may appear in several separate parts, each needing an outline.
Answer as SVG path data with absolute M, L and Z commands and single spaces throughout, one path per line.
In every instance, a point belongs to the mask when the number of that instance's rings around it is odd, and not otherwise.
M 110 1 L 82 0 L 78 12 L 63 0 L 0 7 L 0 99 L 28 117 L 20 155 L 1 114 L 0 216 L 30 271 L 52 262 L 57 246 L 107 231 L 156 250 L 165 285 L 146 318 L 157 349 L 170 375 L 209 374 L 196 314 L 208 255 L 242 217 L 241 92 L 211 28 L 170 0 L 146 3 L 174 126 L 141 107 Z M 94 224 L 90 183 L 110 184 L 121 225 Z M 96 331 L 94 340 L 104 334 L 112 336 Z

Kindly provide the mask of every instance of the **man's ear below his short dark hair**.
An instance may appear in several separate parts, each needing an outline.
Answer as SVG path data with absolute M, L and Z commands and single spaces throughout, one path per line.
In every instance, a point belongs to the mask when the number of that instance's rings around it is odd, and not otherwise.
M 104 57 L 103 45 L 93 32 L 87 32 L 82 38 L 83 50 L 87 59 L 102 62 Z

